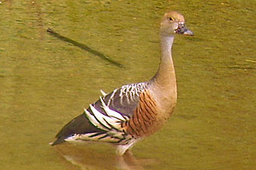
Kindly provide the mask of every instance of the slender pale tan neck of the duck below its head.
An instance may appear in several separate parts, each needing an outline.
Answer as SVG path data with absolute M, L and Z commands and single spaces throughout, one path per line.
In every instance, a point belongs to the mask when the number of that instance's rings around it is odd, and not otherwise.
M 163 98 L 169 98 L 174 105 L 176 104 L 176 76 L 173 66 L 171 48 L 174 36 L 161 36 L 161 63 L 158 72 L 151 79 L 155 88 L 158 88 L 158 94 Z

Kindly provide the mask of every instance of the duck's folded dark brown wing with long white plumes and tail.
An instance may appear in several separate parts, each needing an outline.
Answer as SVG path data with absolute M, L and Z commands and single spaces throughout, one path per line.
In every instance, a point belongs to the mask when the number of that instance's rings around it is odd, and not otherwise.
M 125 143 L 127 124 L 140 103 L 140 94 L 148 88 L 147 82 L 123 85 L 100 97 L 83 114 L 67 123 L 56 135 L 52 145 L 64 141 L 108 141 Z

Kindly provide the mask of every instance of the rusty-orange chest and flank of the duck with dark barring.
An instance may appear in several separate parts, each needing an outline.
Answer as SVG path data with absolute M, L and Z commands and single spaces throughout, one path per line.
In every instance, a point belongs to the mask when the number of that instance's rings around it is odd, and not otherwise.
M 176 102 L 176 101 L 175 101 Z M 170 114 L 173 112 L 175 104 L 160 103 L 151 95 L 150 91 L 145 91 L 139 96 L 139 104 L 134 110 L 133 116 L 123 123 L 123 128 L 127 134 L 135 138 L 143 138 L 164 125 Z

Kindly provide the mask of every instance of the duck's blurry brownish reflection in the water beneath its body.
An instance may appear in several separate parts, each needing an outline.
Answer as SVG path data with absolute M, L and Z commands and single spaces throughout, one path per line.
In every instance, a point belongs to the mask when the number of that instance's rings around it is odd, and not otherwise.
M 64 161 L 71 162 L 73 165 L 83 170 L 92 169 L 122 169 L 122 170 L 142 170 L 144 169 L 139 160 L 130 151 L 123 156 L 117 156 L 113 148 L 96 150 L 92 147 L 64 144 L 55 147 L 55 150 L 64 157 Z M 143 161 L 143 164 L 145 162 Z M 146 163 L 148 164 L 148 163 Z

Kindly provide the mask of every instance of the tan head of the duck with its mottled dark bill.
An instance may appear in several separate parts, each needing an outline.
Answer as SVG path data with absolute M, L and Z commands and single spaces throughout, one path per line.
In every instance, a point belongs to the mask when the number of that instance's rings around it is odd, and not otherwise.
M 186 28 L 183 15 L 176 11 L 170 11 L 164 14 L 161 21 L 160 33 L 161 36 L 174 36 L 175 34 L 194 36 L 194 33 Z

